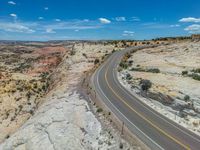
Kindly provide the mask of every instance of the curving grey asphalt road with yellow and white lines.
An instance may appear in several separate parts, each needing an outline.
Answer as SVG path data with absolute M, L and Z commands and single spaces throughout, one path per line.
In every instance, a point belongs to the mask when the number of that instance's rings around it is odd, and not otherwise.
M 157 113 L 127 91 L 117 79 L 117 66 L 127 48 L 113 53 L 93 74 L 91 81 L 100 100 L 128 129 L 151 149 L 200 150 L 200 137 Z

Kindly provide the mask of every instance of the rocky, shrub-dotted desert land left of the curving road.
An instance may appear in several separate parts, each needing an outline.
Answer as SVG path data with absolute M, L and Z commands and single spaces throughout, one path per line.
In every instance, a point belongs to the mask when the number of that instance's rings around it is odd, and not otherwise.
M 121 138 L 81 90 L 86 73 L 120 43 L 1 44 L 0 149 L 146 149 Z

